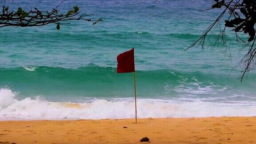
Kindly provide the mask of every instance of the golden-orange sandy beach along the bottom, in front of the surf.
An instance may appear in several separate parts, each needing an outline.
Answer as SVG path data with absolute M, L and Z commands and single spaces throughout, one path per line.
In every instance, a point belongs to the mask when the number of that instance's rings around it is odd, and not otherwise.
M 256 117 L 0 121 L 10 144 L 254 144 Z

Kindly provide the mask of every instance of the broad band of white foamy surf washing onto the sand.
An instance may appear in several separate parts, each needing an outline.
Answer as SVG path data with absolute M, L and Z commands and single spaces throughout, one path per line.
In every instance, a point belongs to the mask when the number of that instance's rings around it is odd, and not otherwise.
M 132 99 L 85 103 L 48 102 L 39 97 L 17 100 L 16 93 L 0 89 L 0 120 L 121 119 L 134 118 Z M 256 106 L 213 102 L 138 99 L 138 117 L 256 116 Z

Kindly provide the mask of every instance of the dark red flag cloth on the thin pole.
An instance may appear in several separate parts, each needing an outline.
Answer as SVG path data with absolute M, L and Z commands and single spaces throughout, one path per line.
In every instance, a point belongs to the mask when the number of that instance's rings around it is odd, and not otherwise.
M 134 48 L 117 56 L 117 73 L 135 72 Z

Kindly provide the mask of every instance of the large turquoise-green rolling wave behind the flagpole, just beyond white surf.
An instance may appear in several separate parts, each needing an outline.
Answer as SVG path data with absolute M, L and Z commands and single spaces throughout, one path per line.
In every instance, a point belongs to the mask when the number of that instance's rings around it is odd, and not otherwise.
M 112 67 L 24 66 L 0 68 L 0 75 L 0 88 L 12 88 L 22 95 L 129 97 L 133 92 L 132 74 L 117 74 Z M 136 77 L 141 97 L 229 96 L 237 90 L 254 93 L 255 87 L 255 78 L 240 84 L 235 76 L 172 69 L 136 71 Z

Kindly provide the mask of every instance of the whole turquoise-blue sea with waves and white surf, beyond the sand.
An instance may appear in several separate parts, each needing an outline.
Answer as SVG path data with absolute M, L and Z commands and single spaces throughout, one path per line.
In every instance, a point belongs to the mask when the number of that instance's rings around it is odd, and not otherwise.
M 51 10 L 60 2 L 4 5 Z M 0 28 L 0 120 L 134 118 L 133 74 L 116 73 L 116 56 L 132 47 L 139 118 L 255 116 L 256 75 L 237 80 L 244 52 L 230 29 L 231 56 L 220 47 L 184 51 L 220 14 L 201 11 L 212 4 L 66 0 L 60 12 L 77 5 L 104 22 Z

